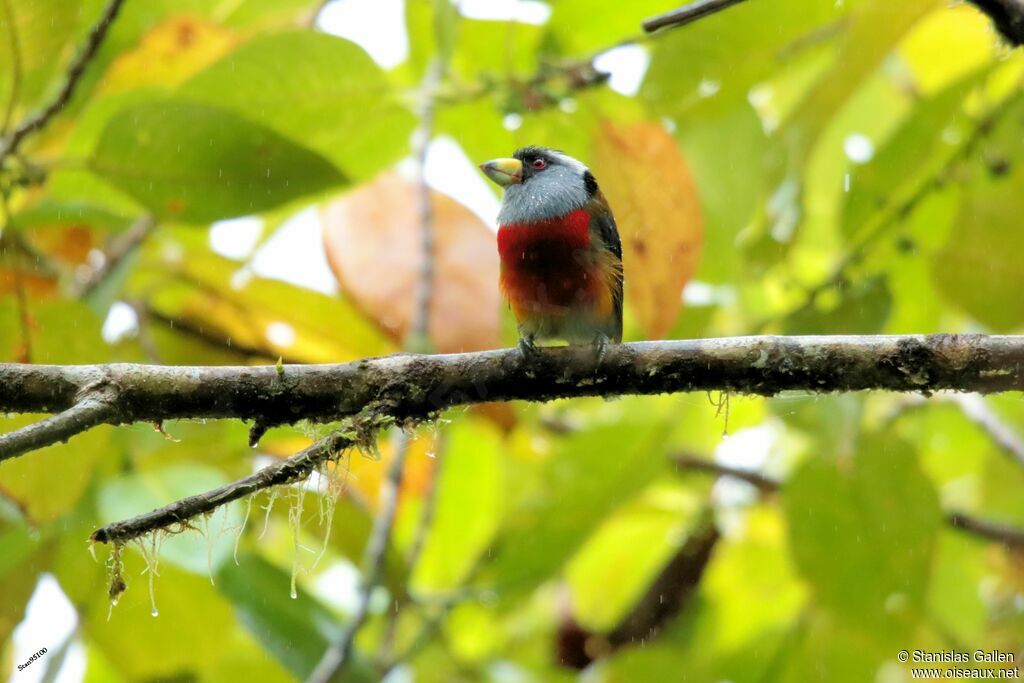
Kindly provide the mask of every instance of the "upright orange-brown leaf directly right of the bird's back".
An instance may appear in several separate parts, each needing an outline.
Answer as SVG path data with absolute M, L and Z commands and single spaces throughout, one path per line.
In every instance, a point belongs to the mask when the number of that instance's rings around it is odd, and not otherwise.
M 703 241 L 689 166 L 660 125 L 604 121 L 593 170 L 623 239 L 627 306 L 646 335 L 658 339 L 679 315 Z

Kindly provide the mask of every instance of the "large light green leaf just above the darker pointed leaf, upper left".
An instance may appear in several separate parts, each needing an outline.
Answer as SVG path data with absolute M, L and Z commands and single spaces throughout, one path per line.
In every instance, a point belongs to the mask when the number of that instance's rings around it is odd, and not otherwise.
M 180 94 L 263 124 L 360 179 L 401 157 L 415 123 L 370 55 L 314 31 L 244 43 Z

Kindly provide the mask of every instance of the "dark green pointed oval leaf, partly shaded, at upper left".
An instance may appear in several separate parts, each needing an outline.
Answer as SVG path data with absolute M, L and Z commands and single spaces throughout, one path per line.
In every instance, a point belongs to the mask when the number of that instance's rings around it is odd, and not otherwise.
M 212 221 L 345 182 L 323 157 L 230 112 L 164 100 L 106 124 L 89 168 L 156 215 Z

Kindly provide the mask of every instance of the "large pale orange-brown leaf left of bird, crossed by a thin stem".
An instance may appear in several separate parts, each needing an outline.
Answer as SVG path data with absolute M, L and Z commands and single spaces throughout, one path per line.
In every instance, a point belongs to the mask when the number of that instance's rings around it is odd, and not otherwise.
M 434 279 L 429 332 L 441 352 L 500 343 L 495 234 L 466 207 L 433 193 Z M 385 174 L 325 206 L 328 261 L 342 290 L 396 340 L 409 331 L 420 283 L 413 183 Z

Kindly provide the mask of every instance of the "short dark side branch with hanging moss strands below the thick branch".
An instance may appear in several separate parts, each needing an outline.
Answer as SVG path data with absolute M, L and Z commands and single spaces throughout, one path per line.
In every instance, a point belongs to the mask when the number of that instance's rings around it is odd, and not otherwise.
M 125 521 L 101 526 L 93 531 L 90 540 L 98 543 L 127 543 L 156 529 L 167 529 L 175 524 L 188 528 L 189 520 L 198 515 L 212 512 L 264 488 L 305 479 L 322 464 L 339 458 L 345 449 L 352 444 L 350 434 L 343 433 L 342 430 L 335 431 L 288 460 L 264 467 L 244 479 L 175 501 Z

